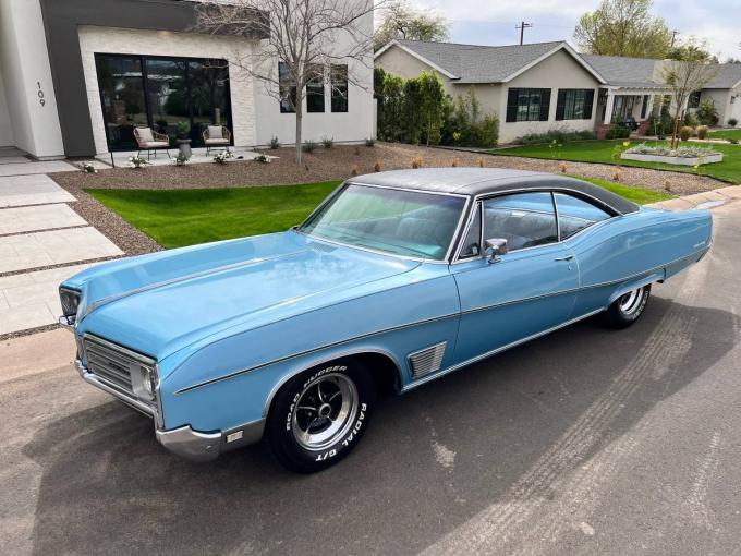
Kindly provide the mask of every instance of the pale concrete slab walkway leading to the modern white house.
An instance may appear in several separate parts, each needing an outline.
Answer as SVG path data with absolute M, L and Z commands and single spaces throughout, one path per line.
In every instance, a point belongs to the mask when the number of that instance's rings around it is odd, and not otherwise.
M 46 176 L 75 170 L 0 149 L 0 336 L 56 323 L 59 283 L 90 261 L 123 254 L 71 208 L 74 196 Z

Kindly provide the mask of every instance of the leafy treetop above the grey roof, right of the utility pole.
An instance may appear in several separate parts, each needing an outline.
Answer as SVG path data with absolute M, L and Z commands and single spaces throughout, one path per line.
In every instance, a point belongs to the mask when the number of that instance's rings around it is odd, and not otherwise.
M 603 0 L 579 20 L 574 39 L 584 52 L 633 58 L 665 58 L 671 33 L 651 14 L 652 0 Z

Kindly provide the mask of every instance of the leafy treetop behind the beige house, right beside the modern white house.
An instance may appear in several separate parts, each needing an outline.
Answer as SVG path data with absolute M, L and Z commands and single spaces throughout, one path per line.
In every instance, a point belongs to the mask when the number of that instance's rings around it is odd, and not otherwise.
M 442 15 L 416 10 L 406 0 L 393 0 L 380 12 L 380 23 L 373 40 L 374 50 L 394 38 L 439 41 L 450 37 L 449 23 Z

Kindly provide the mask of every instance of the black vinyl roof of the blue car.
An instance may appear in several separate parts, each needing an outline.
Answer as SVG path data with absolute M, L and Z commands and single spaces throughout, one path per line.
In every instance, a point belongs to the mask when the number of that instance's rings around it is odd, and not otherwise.
M 487 195 L 512 191 L 569 191 L 597 201 L 616 214 L 639 210 L 639 205 L 593 183 L 544 172 L 500 168 L 421 168 L 368 173 L 348 180 L 351 183 L 380 185 L 432 193 Z

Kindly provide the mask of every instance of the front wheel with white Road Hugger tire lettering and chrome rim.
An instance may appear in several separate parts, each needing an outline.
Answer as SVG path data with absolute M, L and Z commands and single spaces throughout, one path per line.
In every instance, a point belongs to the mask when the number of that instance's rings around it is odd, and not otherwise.
M 357 444 L 376 404 L 376 385 L 356 361 L 306 371 L 276 395 L 267 442 L 286 468 L 312 473 L 338 462 Z

